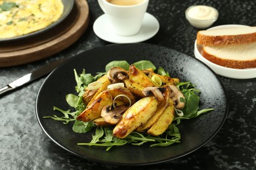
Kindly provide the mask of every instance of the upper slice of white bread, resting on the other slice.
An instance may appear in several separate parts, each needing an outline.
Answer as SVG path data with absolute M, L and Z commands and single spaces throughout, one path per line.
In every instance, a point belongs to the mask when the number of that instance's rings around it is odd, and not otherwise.
M 201 45 L 245 44 L 256 42 L 256 27 L 234 27 L 198 31 Z

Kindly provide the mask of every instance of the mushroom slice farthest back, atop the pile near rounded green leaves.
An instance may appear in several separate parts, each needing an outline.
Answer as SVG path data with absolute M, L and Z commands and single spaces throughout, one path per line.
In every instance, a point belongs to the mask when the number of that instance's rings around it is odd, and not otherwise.
M 112 67 L 108 73 L 108 80 L 113 83 L 123 82 L 126 78 L 129 78 L 128 72 L 121 67 Z

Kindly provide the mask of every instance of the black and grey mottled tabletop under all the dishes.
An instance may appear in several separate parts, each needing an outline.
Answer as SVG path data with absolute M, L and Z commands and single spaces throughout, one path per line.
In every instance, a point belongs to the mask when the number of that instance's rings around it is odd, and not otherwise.
M 51 58 L 16 67 L 0 68 L 0 87 L 56 59 L 105 46 L 93 32 L 93 22 L 102 14 L 89 0 L 90 24 L 72 46 Z M 148 12 L 160 22 L 159 32 L 146 43 L 174 48 L 194 57 L 198 29 L 185 19 L 190 5 L 210 5 L 219 10 L 215 25 L 256 25 L 255 0 L 151 0 Z M 228 93 L 229 112 L 223 127 L 205 146 L 177 160 L 158 165 L 117 167 L 77 158 L 43 133 L 35 117 L 35 98 L 45 77 L 0 96 L 0 169 L 255 169 L 256 78 L 237 80 L 220 76 Z

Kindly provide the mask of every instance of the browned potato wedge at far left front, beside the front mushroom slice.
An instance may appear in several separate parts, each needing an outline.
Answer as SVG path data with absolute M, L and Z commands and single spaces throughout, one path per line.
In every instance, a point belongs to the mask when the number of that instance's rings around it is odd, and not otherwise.
M 95 99 L 87 105 L 87 108 L 77 116 L 77 120 L 89 122 L 96 118 L 100 118 L 103 107 L 106 105 L 112 105 L 112 101 L 112 95 L 107 90 L 99 93 Z

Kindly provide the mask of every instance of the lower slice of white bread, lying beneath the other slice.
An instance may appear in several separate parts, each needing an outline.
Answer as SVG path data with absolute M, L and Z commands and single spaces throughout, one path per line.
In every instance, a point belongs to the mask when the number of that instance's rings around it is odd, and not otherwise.
M 234 69 L 256 68 L 256 42 L 203 46 L 201 54 L 209 61 L 223 67 Z

